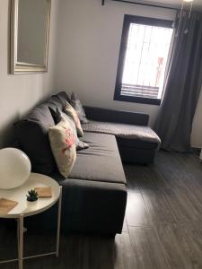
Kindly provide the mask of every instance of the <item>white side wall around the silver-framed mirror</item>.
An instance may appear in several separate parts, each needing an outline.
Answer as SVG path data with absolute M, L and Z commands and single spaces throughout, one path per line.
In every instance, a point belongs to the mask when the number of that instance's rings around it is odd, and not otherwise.
M 0 148 L 12 139 L 13 122 L 54 88 L 58 0 L 52 0 L 48 74 L 8 74 L 9 0 L 0 1 Z

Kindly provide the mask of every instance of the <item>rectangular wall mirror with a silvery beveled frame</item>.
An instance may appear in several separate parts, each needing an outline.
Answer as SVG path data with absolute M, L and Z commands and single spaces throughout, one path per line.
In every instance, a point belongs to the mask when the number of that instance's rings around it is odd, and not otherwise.
M 11 0 L 11 74 L 48 71 L 51 0 Z

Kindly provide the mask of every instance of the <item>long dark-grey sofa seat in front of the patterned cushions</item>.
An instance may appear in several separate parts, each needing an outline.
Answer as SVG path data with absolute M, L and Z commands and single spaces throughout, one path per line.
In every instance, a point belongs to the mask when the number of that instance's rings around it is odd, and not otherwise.
M 69 178 L 126 184 L 116 138 L 111 134 L 84 133 L 83 142 L 90 147 L 77 152 Z M 52 175 L 57 180 L 59 174 Z

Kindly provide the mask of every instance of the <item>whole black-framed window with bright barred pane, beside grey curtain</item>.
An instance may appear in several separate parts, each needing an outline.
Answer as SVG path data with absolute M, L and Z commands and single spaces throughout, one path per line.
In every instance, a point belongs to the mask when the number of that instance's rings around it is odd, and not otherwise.
M 125 15 L 114 100 L 161 103 L 172 23 Z

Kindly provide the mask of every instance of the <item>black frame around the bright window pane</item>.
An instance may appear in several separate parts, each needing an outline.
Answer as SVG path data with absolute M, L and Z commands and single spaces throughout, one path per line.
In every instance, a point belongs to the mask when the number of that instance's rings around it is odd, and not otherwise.
M 137 24 L 143 24 L 143 25 L 149 25 L 149 26 L 159 26 L 159 27 L 173 29 L 173 21 L 155 19 L 155 18 L 150 18 L 150 17 L 128 15 L 128 14 L 124 15 L 123 29 L 122 29 L 120 49 L 119 49 L 119 63 L 118 63 L 117 78 L 116 78 L 116 85 L 115 85 L 115 91 L 114 91 L 114 100 L 150 104 L 150 105 L 160 105 L 162 99 L 152 99 L 152 98 L 121 95 L 121 84 L 122 84 L 125 58 L 127 55 L 127 39 L 128 39 L 128 34 L 129 34 L 130 23 L 137 23 Z

